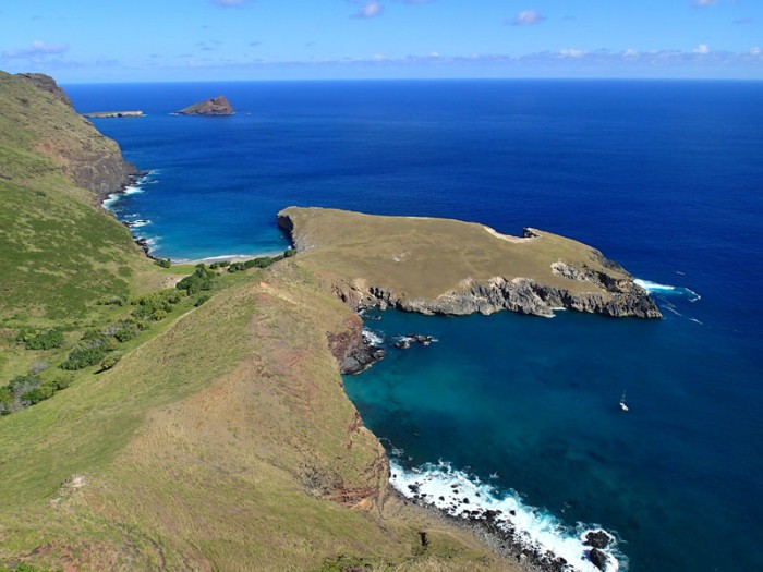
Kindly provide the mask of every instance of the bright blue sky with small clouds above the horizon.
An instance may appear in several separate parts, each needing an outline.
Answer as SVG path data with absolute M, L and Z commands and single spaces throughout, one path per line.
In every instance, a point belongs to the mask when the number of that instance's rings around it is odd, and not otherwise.
M 2 0 L 0 69 L 62 83 L 763 78 L 763 0 Z

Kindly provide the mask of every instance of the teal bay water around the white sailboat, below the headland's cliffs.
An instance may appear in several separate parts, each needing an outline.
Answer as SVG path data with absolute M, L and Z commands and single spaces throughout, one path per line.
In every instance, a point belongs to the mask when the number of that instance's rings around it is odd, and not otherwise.
M 760 436 L 756 393 L 728 387 L 755 364 L 719 351 L 722 334 L 698 342 L 702 326 L 691 321 L 565 312 L 387 312 L 367 327 L 389 356 L 346 377 L 346 388 L 400 466 L 443 460 L 498 497 L 519 491 L 568 525 L 561 536 L 576 535 L 578 522 L 604 526 L 630 570 L 742 570 L 739 553 L 758 558 L 750 534 L 760 514 L 743 509 L 758 502 L 763 470 L 749 454 Z M 393 348 L 411 332 L 439 341 Z

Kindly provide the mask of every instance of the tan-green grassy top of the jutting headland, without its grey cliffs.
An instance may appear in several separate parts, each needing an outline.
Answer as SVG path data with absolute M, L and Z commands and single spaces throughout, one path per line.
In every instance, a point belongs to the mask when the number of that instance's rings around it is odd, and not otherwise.
M 590 282 L 554 275 L 550 265 L 558 260 L 628 278 L 604 268 L 590 246 L 546 232 L 538 239 L 507 241 L 482 224 L 449 219 L 323 208 L 290 207 L 284 212 L 295 226 L 298 244 L 306 247 L 300 257 L 304 264 L 340 277 L 363 278 L 410 297 L 435 299 L 458 290 L 465 278 L 496 276 L 532 278 L 573 293 L 600 291 Z

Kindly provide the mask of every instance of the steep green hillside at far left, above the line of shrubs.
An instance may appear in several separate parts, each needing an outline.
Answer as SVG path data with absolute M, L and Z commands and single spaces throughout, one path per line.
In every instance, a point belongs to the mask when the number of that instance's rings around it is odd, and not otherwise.
M 130 232 L 68 178 L 116 144 L 51 94 L 0 72 L 0 326 L 76 319 L 105 294 L 160 282 Z

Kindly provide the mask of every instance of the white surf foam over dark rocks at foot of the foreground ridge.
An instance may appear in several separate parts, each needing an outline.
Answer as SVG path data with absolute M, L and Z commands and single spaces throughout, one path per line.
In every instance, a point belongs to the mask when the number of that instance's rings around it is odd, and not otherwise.
M 600 572 L 588 557 L 591 547 L 583 544 L 589 532 L 602 530 L 598 526 L 579 523 L 569 528 L 548 512 L 525 504 L 517 494 L 498 494 L 494 486 L 443 461 L 404 470 L 392 459 L 390 483 L 403 497 L 436 507 L 450 516 L 479 519 L 485 511 L 493 511 L 492 523 L 524 550 L 549 561 L 564 558 L 567 564 L 562 570 L 568 572 Z M 615 536 L 607 535 L 611 541 L 603 550 L 607 557 L 605 570 L 615 572 L 625 558 L 617 551 Z

